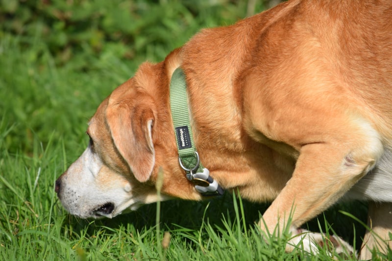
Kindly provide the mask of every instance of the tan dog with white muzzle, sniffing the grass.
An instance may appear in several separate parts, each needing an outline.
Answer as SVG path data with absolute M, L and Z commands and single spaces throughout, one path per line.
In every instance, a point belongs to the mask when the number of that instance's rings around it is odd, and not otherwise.
M 142 64 L 100 104 L 89 146 L 56 181 L 62 204 L 82 218 L 113 217 L 157 201 L 162 171 L 163 199 L 200 200 L 222 188 L 272 201 L 264 231 L 283 227 L 294 210 L 292 243 L 303 239 L 312 250 L 318 234 L 298 227 L 342 198 L 360 199 L 370 202 L 372 228 L 362 256 L 385 251 L 391 19 L 390 0 L 293 0 L 200 31 L 163 62 Z M 173 123 L 177 68 L 190 128 Z M 179 159 L 188 145 L 201 172 Z

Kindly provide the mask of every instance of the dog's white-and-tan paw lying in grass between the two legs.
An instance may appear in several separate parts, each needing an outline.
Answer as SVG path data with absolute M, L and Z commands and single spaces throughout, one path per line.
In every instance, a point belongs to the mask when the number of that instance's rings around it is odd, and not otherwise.
M 342 238 L 321 233 L 314 233 L 305 229 L 292 229 L 292 237 L 288 241 L 288 248 L 294 250 L 299 248 L 308 253 L 317 255 L 325 250 L 331 258 L 335 256 L 352 257 L 357 256 L 353 247 Z

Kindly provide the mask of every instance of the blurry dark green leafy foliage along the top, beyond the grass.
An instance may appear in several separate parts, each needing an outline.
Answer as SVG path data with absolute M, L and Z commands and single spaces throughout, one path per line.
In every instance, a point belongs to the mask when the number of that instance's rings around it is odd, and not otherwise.
M 232 24 L 273 2 L 1 0 L 0 37 L 18 35 L 25 48 L 33 43 L 48 47 L 57 65 L 77 59 L 79 69 L 89 70 L 92 57 L 105 55 L 161 60 L 166 47 L 182 45 L 200 28 Z M 32 41 L 36 38 L 39 43 Z

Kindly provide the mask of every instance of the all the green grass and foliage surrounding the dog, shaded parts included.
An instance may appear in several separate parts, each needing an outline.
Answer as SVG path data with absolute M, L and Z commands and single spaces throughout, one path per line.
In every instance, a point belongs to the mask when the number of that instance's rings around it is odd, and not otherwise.
M 88 119 L 144 61 L 160 61 L 200 28 L 262 11 L 247 1 L 0 3 L 1 260 L 323 260 L 285 253 L 254 225 L 268 207 L 226 193 L 173 200 L 114 219 L 65 212 L 56 178 L 88 143 Z M 77 2 L 77 3 L 76 3 Z M 367 206 L 340 204 L 307 225 L 358 250 Z M 170 243 L 169 242 L 170 238 Z M 340 259 L 340 257 L 337 257 Z

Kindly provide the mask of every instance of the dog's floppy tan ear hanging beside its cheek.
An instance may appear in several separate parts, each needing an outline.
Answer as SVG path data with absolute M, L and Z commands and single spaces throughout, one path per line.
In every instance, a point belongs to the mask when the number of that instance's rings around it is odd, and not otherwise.
M 147 181 L 155 164 L 152 142 L 154 112 L 146 103 L 109 102 L 106 120 L 112 139 L 133 175 L 140 182 Z

